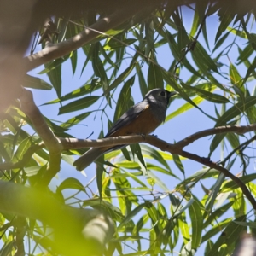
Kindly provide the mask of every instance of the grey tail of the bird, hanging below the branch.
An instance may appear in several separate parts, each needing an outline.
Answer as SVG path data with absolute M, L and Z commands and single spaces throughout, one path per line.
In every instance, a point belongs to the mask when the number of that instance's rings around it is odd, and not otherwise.
M 78 171 L 84 170 L 87 166 L 95 161 L 98 157 L 100 157 L 104 151 L 101 148 L 91 148 L 87 152 L 85 152 L 79 159 L 73 162 L 73 166 L 76 166 Z

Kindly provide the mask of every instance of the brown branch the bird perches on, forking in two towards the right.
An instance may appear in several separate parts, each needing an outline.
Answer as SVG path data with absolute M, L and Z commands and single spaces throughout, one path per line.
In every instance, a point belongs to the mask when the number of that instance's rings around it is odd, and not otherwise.
M 160 148 L 162 151 L 167 151 L 171 154 L 179 154 L 185 158 L 190 160 L 195 160 L 205 166 L 210 168 L 214 168 L 219 172 L 224 173 L 226 177 L 230 177 L 242 190 L 243 194 L 247 196 L 248 201 L 251 202 L 253 208 L 256 210 L 256 201 L 254 200 L 253 196 L 251 195 L 250 191 L 247 189 L 247 186 L 242 183 L 239 177 L 236 177 L 227 169 L 222 166 L 219 166 L 217 163 L 212 162 L 210 159 L 205 157 L 200 157 L 197 154 L 191 154 L 189 152 L 183 151 L 184 145 L 194 142 L 196 139 L 200 137 L 206 137 L 216 133 L 223 133 L 223 132 L 230 132 L 236 131 L 237 133 L 245 133 L 248 131 L 255 131 L 256 125 L 246 125 L 246 126 L 224 126 L 224 127 L 217 127 L 213 129 L 208 129 L 205 131 L 197 132 L 190 137 L 185 138 L 179 143 L 171 144 L 166 143 L 163 140 L 160 140 L 157 137 L 146 135 L 146 136 L 125 136 L 125 137 L 109 137 L 99 140 L 79 140 L 73 138 L 61 138 L 61 143 L 63 144 L 63 148 L 67 149 L 70 146 L 72 149 L 74 148 L 85 148 L 85 147 L 105 147 L 105 146 L 114 146 L 114 145 L 122 145 L 122 144 L 131 144 L 131 143 L 149 143 L 157 148 Z

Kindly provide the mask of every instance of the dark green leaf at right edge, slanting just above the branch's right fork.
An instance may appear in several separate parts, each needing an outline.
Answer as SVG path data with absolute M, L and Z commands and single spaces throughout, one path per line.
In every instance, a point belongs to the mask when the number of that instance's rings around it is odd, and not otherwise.
M 230 119 L 235 118 L 237 115 L 243 113 L 247 108 L 256 104 L 256 96 L 248 96 L 245 102 L 238 102 L 233 107 L 228 109 L 216 122 L 215 127 L 226 125 Z

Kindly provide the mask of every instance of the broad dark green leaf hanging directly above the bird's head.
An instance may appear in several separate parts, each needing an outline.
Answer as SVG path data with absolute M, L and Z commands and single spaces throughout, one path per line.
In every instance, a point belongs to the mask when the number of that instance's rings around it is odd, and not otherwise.
M 155 88 L 164 88 L 163 75 L 160 67 L 150 62 L 148 68 L 148 90 Z

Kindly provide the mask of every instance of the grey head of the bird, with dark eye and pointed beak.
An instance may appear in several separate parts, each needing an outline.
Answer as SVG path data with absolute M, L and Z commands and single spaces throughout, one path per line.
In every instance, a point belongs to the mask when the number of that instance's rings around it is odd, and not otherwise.
M 168 105 L 170 97 L 174 95 L 177 95 L 177 91 L 168 91 L 165 89 L 156 88 L 149 90 L 144 99 L 150 102 L 162 102 Z

